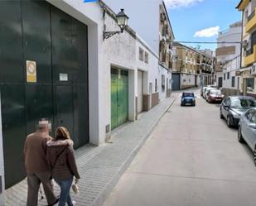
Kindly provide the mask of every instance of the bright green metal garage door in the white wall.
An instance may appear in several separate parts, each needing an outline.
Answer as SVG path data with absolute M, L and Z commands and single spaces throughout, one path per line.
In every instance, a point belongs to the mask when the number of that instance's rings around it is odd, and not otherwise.
M 128 121 L 128 71 L 111 69 L 111 129 Z

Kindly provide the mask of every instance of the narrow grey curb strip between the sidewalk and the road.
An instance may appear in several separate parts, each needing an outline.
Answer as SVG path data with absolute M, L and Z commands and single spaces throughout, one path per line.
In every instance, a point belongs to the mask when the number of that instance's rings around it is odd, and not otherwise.
M 109 194 L 112 192 L 112 190 L 114 189 L 115 185 L 118 184 L 118 180 L 120 180 L 120 178 L 123 175 L 123 173 L 128 169 L 129 165 L 131 165 L 131 163 L 134 160 L 135 156 L 137 156 L 137 154 L 141 150 L 142 146 L 145 145 L 148 137 L 150 137 L 150 135 L 152 134 L 153 130 L 155 129 L 155 127 L 157 127 L 158 122 L 160 122 L 160 120 L 165 115 L 165 113 L 167 113 L 167 111 L 171 108 L 173 103 L 176 101 L 176 98 L 177 97 L 173 98 L 173 100 L 171 101 L 170 105 L 167 106 L 167 109 L 165 109 L 163 111 L 163 113 L 157 118 L 157 120 L 155 122 L 153 122 L 153 125 L 152 125 L 152 128 L 150 129 L 150 131 L 147 132 L 147 134 L 142 139 L 142 141 L 138 144 L 138 146 L 136 146 L 136 148 L 133 150 L 133 152 L 130 154 L 130 156 L 128 156 L 127 160 L 124 161 L 123 165 L 120 167 L 118 172 L 114 175 L 112 180 L 109 181 L 109 184 L 107 184 L 105 186 L 105 188 L 101 192 L 101 194 L 99 194 L 99 196 L 96 199 L 94 199 L 94 203 L 91 204 L 91 206 L 100 206 L 100 205 L 104 204 L 105 199 L 107 199 L 109 197 Z

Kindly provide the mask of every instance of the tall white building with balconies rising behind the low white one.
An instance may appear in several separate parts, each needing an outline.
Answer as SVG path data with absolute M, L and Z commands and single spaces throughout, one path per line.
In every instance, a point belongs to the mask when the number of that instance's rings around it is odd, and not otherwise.
M 129 0 L 116 1 L 104 0 L 109 7 L 118 12 L 120 7 L 125 8 L 129 18 L 129 26 L 137 32 L 138 36 L 147 42 L 158 58 L 156 69 L 157 79 L 151 81 L 153 104 L 162 101 L 171 94 L 171 59 L 174 34 L 167 7 L 162 0 Z M 136 6 L 134 6 L 136 5 Z M 142 8 L 147 7 L 147 12 L 142 13 Z M 139 49 L 138 49 L 139 50 Z M 141 50 L 141 54 L 143 51 Z M 139 68 L 138 68 L 139 69 Z M 139 69 L 141 70 L 141 69 Z M 141 74 L 138 74 L 139 76 Z M 146 103 L 147 104 L 147 103 Z

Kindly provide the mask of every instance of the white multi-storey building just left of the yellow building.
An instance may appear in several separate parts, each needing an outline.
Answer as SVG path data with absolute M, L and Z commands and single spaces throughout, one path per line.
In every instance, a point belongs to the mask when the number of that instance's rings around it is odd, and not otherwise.
M 239 93 L 239 76 L 236 70 L 240 65 L 240 42 L 242 35 L 242 22 L 234 22 L 229 29 L 220 31 L 217 38 L 215 84 L 223 93 L 233 95 Z

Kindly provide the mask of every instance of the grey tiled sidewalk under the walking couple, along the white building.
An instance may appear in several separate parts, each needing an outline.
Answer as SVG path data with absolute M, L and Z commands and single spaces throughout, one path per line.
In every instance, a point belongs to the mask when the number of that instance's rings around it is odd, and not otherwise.
M 175 101 L 171 98 L 159 103 L 147 113 L 142 113 L 138 121 L 128 122 L 112 132 L 109 143 L 103 146 L 86 145 L 75 151 L 80 171 L 80 194 L 72 198 L 79 206 L 98 206 L 103 204 L 123 172 L 147 140 L 157 122 Z M 55 186 L 59 194 L 58 186 Z M 22 180 L 5 191 L 6 206 L 25 206 L 27 200 L 27 180 Z M 44 195 L 45 196 L 45 195 Z M 41 195 L 39 194 L 39 199 Z M 39 200 L 39 206 L 45 206 L 46 198 Z

